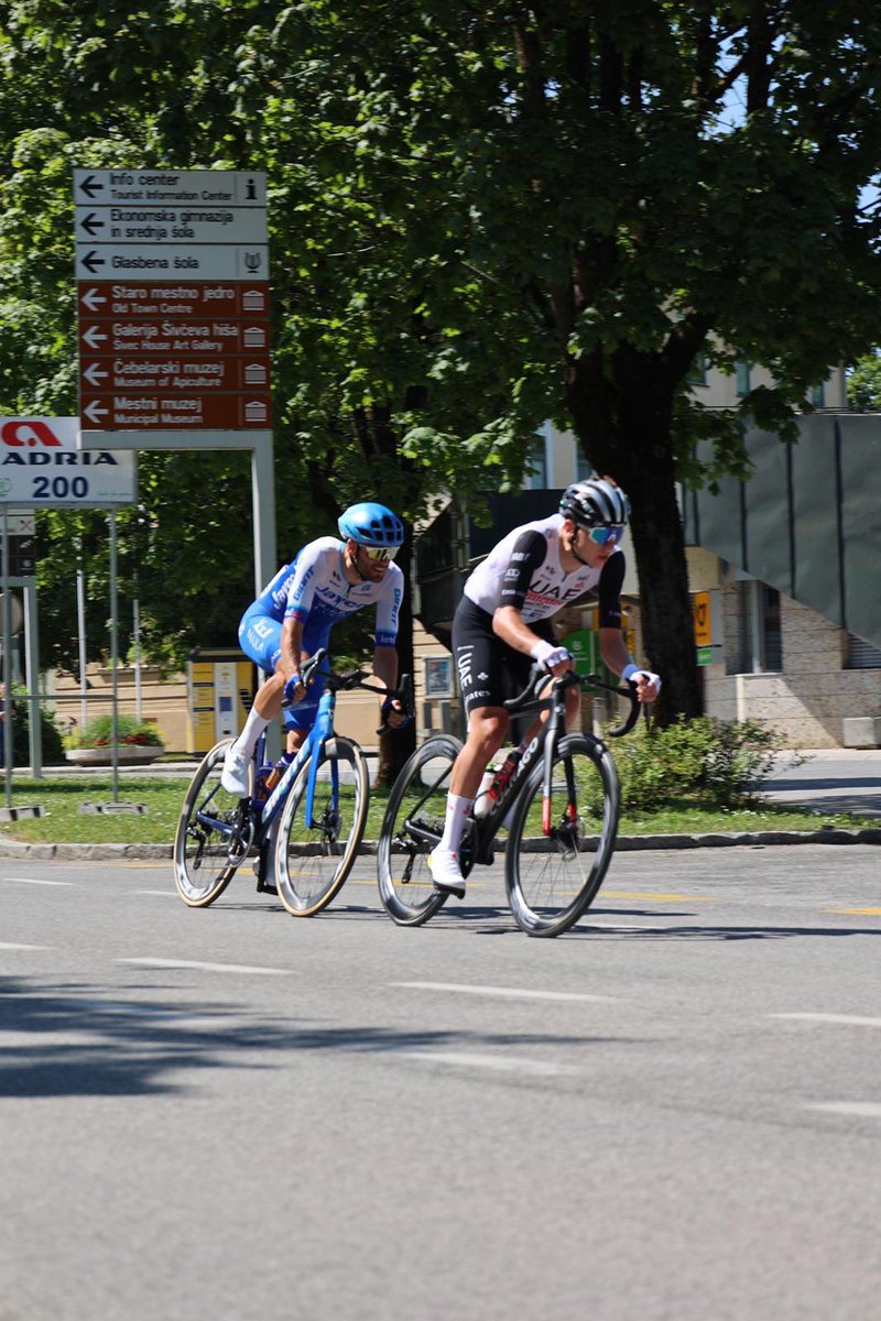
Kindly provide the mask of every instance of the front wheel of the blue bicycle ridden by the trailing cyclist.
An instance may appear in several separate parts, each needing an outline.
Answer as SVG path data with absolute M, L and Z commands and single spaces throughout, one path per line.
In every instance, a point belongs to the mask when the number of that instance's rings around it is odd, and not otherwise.
M 358 744 L 335 734 L 318 757 L 312 819 L 306 820 L 309 758 L 281 811 L 275 851 L 279 898 L 295 917 L 321 913 L 338 894 L 367 822 L 370 777 Z

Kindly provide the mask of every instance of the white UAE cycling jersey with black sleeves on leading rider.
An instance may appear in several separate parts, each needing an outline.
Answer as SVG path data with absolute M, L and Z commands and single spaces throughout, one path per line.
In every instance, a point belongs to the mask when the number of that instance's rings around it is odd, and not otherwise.
M 621 584 L 625 559 L 619 546 L 600 568 L 579 565 L 567 573 L 560 564 L 563 514 L 522 523 L 503 536 L 465 583 L 465 596 L 487 614 L 512 605 L 524 624 L 547 620 L 592 588 L 600 594 L 600 624 L 621 627 Z

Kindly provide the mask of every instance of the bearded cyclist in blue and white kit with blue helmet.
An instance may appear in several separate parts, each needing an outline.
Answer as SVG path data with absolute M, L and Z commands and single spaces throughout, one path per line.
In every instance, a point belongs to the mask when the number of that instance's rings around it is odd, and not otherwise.
M 283 701 L 293 701 L 285 712 L 287 757 L 292 758 L 314 724 L 324 682 L 317 678 L 302 687 L 302 662 L 328 645 L 330 629 L 339 620 L 367 605 L 376 606 L 374 674 L 394 688 L 398 682 L 398 614 L 404 575 L 395 555 L 404 540 L 404 524 L 384 505 L 351 505 L 339 517 L 339 535 L 309 542 L 284 564 L 239 625 L 242 650 L 269 672 L 262 684 L 244 729 L 227 750 L 221 783 L 230 794 L 248 793 L 248 765 L 256 741 Z M 386 697 L 382 717 L 392 729 L 408 723 L 400 703 Z

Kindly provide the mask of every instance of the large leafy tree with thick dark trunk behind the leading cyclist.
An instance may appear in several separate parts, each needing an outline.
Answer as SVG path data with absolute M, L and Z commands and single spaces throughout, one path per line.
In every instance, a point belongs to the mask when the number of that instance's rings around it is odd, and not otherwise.
M 676 478 L 744 473 L 752 423 L 794 439 L 810 386 L 876 334 L 877 7 L 313 0 L 248 44 L 242 95 L 276 141 L 292 125 L 291 177 L 335 181 L 383 256 L 382 227 L 405 231 L 421 338 L 402 358 L 428 354 L 429 398 L 404 450 L 442 470 L 446 436 L 469 443 L 449 406 L 476 358 L 519 406 L 485 395 L 481 441 L 571 425 L 633 501 L 664 715 L 697 712 Z M 297 155 L 304 106 L 317 156 Z M 346 258 L 375 312 L 374 248 Z M 349 343 L 346 386 L 400 416 L 388 343 Z M 737 358 L 774 387 L 701 410 L 696 363 Z

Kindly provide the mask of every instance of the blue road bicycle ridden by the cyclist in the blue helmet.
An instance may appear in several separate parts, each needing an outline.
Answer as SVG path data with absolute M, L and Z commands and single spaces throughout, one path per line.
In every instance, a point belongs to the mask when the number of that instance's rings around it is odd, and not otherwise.
M 326 654 L 321 647 L 305 662 L 304 686 Z M 412 712 L 409 676 L 402 676 L 398 688 L 367 683 L 367 678 L 366 670 L 326 672 L 314 725 L 287 768 L 263 765 L 264 733 L 255 749 L 246 798 L 221 785 L 232 740 L 223 738 L 206 753 L 186 790 L 174 836 L 174 882 L 186 905 L 213 904 L 252 855 L 258 890 L 277 894 L 295 917 L 320 913 L 339 893 L 363 838 L 370 775 L 358 744 L 334 729 L 337 692 L 366 688 L 399 699 Z M 279 769 L 280 779 L 272 785 L 272 773 Z

